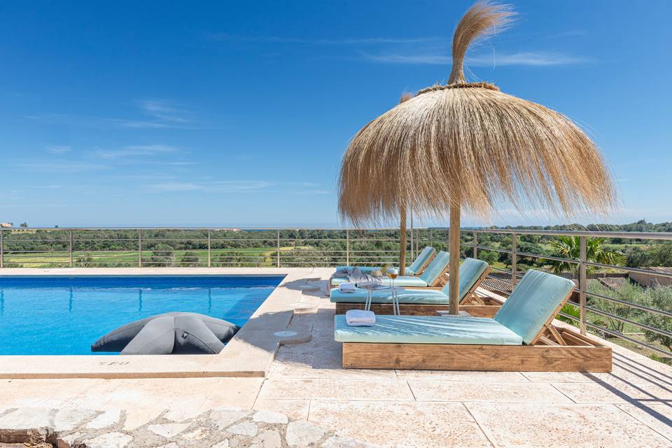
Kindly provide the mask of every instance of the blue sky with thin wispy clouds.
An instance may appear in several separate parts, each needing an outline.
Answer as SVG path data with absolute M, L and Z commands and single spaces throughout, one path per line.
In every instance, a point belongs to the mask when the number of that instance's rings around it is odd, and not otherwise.
M 468 6 L 0 3 L 0 222 L 339 225 L 349 139 L 402 91 L 447 79 Z M 672 3 L 514 8 L 516 26 L 470 53 L 471 79 L 589 132 L 622 197 L 601 221 L 672 221 Z M 491 220 L 561 222 L 505 206 Z

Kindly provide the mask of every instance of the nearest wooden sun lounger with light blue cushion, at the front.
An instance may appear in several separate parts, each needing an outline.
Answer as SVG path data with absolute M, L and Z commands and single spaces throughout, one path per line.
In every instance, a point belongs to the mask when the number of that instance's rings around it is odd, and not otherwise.
M 343 367 L 387 369 L 610 372 L 611 348 L 552 325 L 574 283 L 528 270 L 493 318 L 377 316 L 349 327 L 335 316 Z

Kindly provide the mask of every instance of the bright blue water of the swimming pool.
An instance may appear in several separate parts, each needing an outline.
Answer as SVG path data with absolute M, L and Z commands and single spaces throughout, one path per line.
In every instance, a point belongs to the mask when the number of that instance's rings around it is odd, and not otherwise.
M 242 326 L 282 279 L 0 276 L 0 355 L 93 354 L 91 344 L 110 330 L 168 311 Z

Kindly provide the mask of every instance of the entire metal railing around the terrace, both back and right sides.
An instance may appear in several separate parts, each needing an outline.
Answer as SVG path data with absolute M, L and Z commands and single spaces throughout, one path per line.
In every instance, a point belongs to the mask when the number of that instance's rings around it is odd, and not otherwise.
M 641 332 L 672 338 L 671 325 L 657 328 L 629 314 L 601 307 L 606 303 L 633 309 L 643 316 L 672 319 L 672 309 L 659 309 L 648 303 L 612 297 L 588 287 L 589 270 L 617 271 L 668 279 L 672 270 L 661 271 L 635 266 L 608 265 L 590 260 L 587 241 L 594 237 L 647 241 L 672 241 L 672 233 L 662 232 L 587 232 L 570 230 L 463 229 L 463 255 L 498 254 L 491 262 L 487 288 L 507 295 L 524 274 L 525 265 L 549 269 L 550 262 L 573 267 L 576 306 L 580 316 L 561 313 L 577 323 L 582 333 L 600 335 L 636 344 L 662 356 L 672 353 L 662 345 L 637 338 L 633 333 L 615 330 L 608 321 L 637 328 Z M 407 262 L 412 262 L 425 245 L 447 248 L 449 230 L 415 228 L 408 230 Z M 547 242 L 554 237 L 578 237 L 577 258 L 538 253 L 527 248 L 529 237 Z M 492 244 L 493 238 L 499 239 Z M 506 239 L 506 244 L 500 244 Z M 487 245 L 489 244 L 490 245 Z M 527 244 L 527 245 L 526 245 Z M 400 247 L 398 228 L 3 228 L 0 229 L 0 267 L 333 267 L 337 265 L 396 265 Z M 468 253 L 468 252 L 471 253 Z M 548 252 L 548 251 L 547 251 Z M 499 261 L 505 258 L 505 263 Z M 490 260 L 492 261 L 492 260 Z M 594 275 L 592 276 L 594 277 Z M 502 286 L 504 285 L 504 286 Z

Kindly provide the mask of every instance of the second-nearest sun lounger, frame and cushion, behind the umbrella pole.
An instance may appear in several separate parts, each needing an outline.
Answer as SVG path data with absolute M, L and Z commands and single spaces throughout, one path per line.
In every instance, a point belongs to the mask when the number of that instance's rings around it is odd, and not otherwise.
M 490 272 L 488 263 L 475 258 L 465 258 L 460 266 L 460 309 L 471 316 L 492 317 L 499 310 L 501 302 L 483 300 L 475 295 L 475 290 Z M 376 314 L 393 314 L 391 290 L 372 291 L 371 311 Z M 330 300 L 336 304 L 336 314 L 344 314 L 349 309 L 363 309 L 367 290 L 356 288 L 352 293 L 344 293 L 334 288 Z M 401 314 L 415 316 L 435 316 L 436 311 L 447 311 L 449 307 L 448 283 L 441 290 L 404 288 L 397 293 Z

